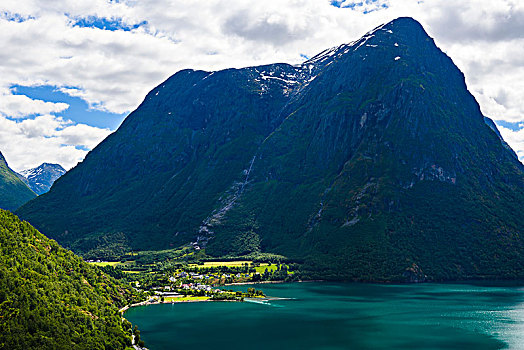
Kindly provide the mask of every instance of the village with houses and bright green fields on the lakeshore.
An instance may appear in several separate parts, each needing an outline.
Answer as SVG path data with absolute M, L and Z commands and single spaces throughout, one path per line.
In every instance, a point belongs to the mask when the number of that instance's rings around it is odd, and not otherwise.
M 278 283 L 292 280 L 294 271 L 281 263 L 260 263 L 249 260 L 207 261 L 165 266 L 132 262 L 89 261 L 115 278 L 126 280 L 144 294 L 146 301 L 156 303 L 244 301 L 265 298 L 253 287 L 239 290 L 239 285 Z M 235 287 L 231 287 L 235 286 Z

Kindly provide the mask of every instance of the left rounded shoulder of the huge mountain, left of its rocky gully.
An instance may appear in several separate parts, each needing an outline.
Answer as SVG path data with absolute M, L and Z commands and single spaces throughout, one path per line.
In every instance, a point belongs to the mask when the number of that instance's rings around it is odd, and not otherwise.
M 279 113 L 291 92 L 284 80 L 293 75 L 296 69 L 286 64 L 178 72 L 70 170 L 73 175 L 20 213 L 83 252 L 100 244 L 123 252 L 193 240 L 285 117 Z M 160 234 L 142 239 L 153 231 Z

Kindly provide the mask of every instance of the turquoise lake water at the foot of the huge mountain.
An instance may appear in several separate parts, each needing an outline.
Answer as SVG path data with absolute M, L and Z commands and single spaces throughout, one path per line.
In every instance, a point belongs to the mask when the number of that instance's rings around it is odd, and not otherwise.
M 161 349 L 524 349 L 524 287 L 473 284 L 257 285 L 267 304 L 132 308 Z M 246 290 L 247 286 L 236 289 Z

